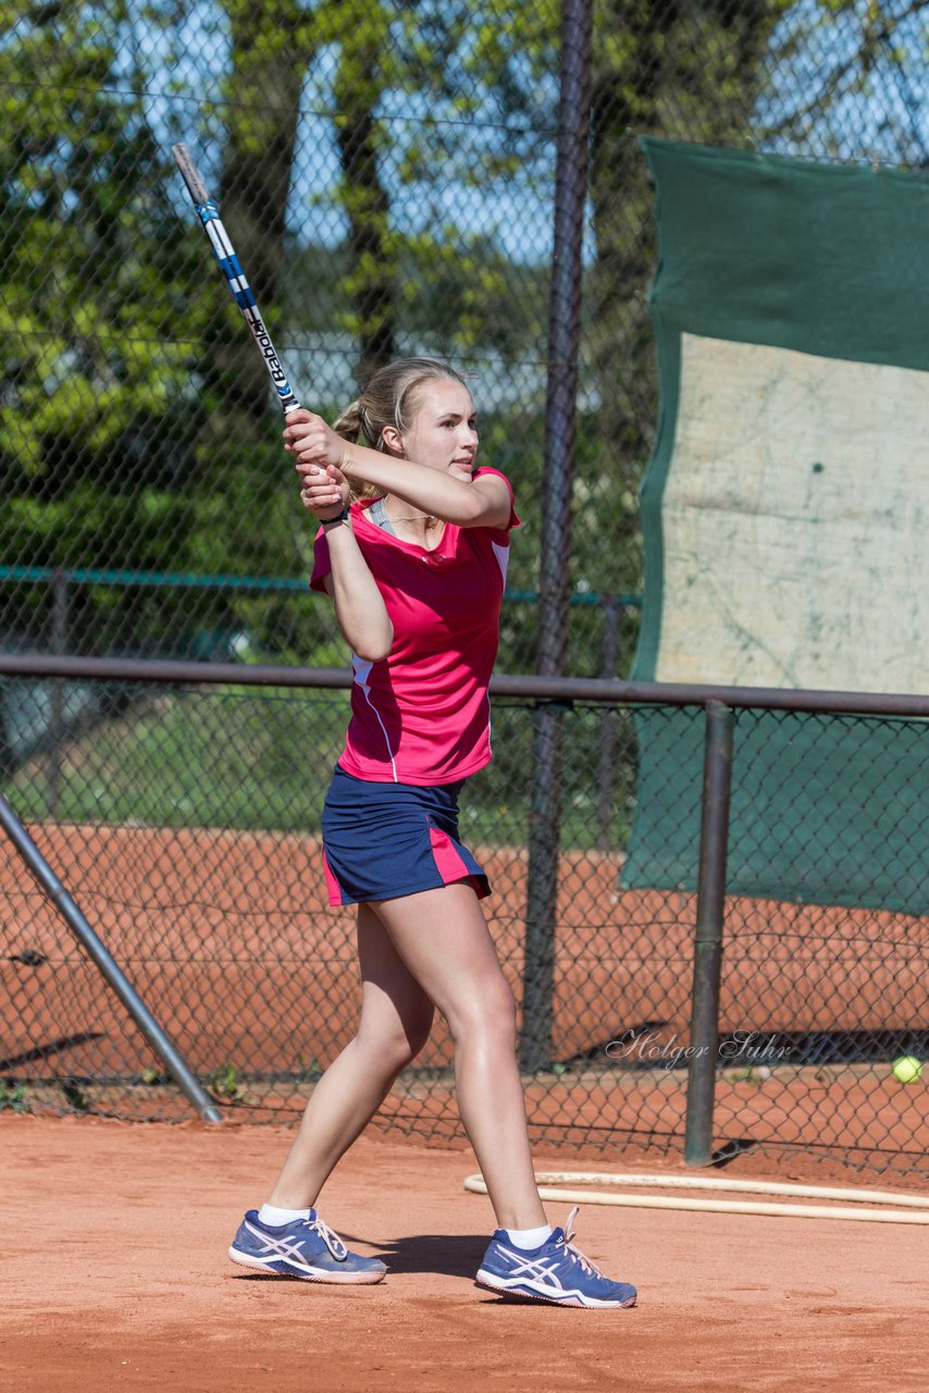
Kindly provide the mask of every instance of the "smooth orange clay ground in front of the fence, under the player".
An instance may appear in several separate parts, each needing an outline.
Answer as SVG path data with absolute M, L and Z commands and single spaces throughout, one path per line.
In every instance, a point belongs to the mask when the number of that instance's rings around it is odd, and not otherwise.
M 280 1127 L 1 1116 L 0 1385 L 925 1393 L 925 1227 L 586 1205 L 578 1247 L 639 1286 L 638 1308 L 510 1305 L 472 1283 L 492 1216 L 461 1188 L 471 1152 L 369 1134 L 320 1208 L 386 1282 L 276 1282 L 226 1248 L 287 1144 Z

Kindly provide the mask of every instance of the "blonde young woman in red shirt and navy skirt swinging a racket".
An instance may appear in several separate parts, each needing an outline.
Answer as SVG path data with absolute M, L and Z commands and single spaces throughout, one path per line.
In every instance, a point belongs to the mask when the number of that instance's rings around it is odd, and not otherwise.
M 571 1233 L 546 1222 L 513 995 L 478 903 L 489 886 L 458 840 L 458 790 L 490 759 L 487 683 L 518 524 L 510 483 L 478 468 L 471 393 L 430 358 L 377 372 L 331 429 L 294 412 L 284 439 L 302 501 L 322 522 L 311 585 L 330 595 L 354 655 L 323 847 L 330 903 L 358 905 L 362 1006 L 355 1038 L 313 1089 L 269 1202 L 245 1215 L 230 1258 L 308 1282 L 380 1282 L 383 1262 L 350 1252 L 312 1206 L 425 1045 L 437 1009 L 499 1224 L 476 1280 L 559 1305 L 634 1305 L 635 1287 L 604 1277 Z

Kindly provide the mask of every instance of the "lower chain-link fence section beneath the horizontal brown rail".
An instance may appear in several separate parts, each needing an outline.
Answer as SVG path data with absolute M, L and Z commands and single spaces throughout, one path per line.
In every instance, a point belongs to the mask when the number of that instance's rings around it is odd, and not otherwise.
M 7 678 L 7 694 L 21 681 Z M 701 705 L 660 705 L 660 696 L 653 688 L 648 708 L 561 705 L 557 901 L 533 933 L 531 748 L 545 709 L 536 701 L 497 696 L 497 754 L 462 800 L 462 834 L 494 887 L 487 911 L 504 971 L 517 1002 L 533 1002 L 521 1013 L 520 1049 L 539 1141 L 653 1153 L 684 1142 L 688 1070 L 703 1049 L 691 1027 L 695 940 L 705 936 L 695 932 L 699 836 L 684 865 L 666 839 L 667 859 L 642 872 L 642 741 L 660 740 L 662 726 L 702 741 L 705 717 Z M 81 701 L 82 731 L 7 775 L 7 797 L 219 1106 L 240 1120 L 294 1119 L 351 1038 L 359 1003 L 354 914 L 327 907 L 318 836 L 347 692 L 88 681 L 67 684 L 65 699 Z M 925 1174 L 925 1080 L 893 1074 L 900 1057 L 929 1057 L 929 918 L 919 903 L 929 885 L 907 830 L 912 809 L 876 812 L 858 779 L 847 822 L 857 840 L 830 834 L 825 815 L 812 848 L 787 826 L 779 837 L 772 823 L 767 854 L 786 851 L 786 873 L 802 885 L 811 855 L 850 865 L 869 857 L 876 820 L 896 858 L 891 907 L 862 908 L 854 894 L 836 907 L 744 893 L 765 809 L 745 815 L 740 797 L 751 788 L 754 729 L 765 715 L 806 731 L 802 798 L 813 823 L 816 807 L 827 807 L 818 804 L 827 790 L 815 751 L 832 759 L 834 729 L 857 720 L 858 744 L 844 748 L 858 776 L 880 719 L 734 713 L 715 1148 L 799 1148 Z M 921 749 L 915 775 L 925 787 Z M 699 825 L 701 770 L 678 768 L 671 781 L 674 816 Z M 7 839 L 0 876 L 6 1106 L 188 1116 L 163 1061 Z M 451 1066 L 440 1022 L 380 1124 L 458 1134 Z

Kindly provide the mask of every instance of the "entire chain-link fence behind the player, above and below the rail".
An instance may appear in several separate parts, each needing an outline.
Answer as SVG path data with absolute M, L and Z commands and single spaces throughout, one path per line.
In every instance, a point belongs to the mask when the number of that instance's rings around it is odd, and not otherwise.
M 556 166 L 579 120 L 559 91 L 581 53 L 589 162 L 563 670 L 628 670 L 637 486 L 657 405 L 638 137 L 926 167 L 929 6 L 596 0 L 589 60 L 563 8 L 103 0 L 4 14 L 0 649 L 345 660 L 329 606 L 305 591 L 313 528 L 263 369 L 170 159 L 182 141 L 305 401 L 331 415 L 398 354 L 443 354 L 471 373 L 482 457 L 513 476 L 524 518 L 499 666 L 535 669 Z M 350 921 L 323 907 L 315 840 L 344 701 L 145 681 L 0 685 L 13 805 L 235 1116 L 292 1116 L 351 1031 Z M 666 830 L 678 815 L 689 830 L 666 839 L 673 864 L 660 846 L 649 859 L 639 755 L 662 724 L 677 740 L 681 720 L 687 737 L 702 716 L 649 712 L 645 741 L 642 709 L 499 705 L 497 756 L 465 807 L 465 836 L 496 885 L 506 971 L 518 999 L 533 999 L 522 1061 L 538 1138 L 664 1148 L 681 1135 L 699 777 L 681 768 L 662 791 L 650 768 L 649 807 Z M 829 747 L 832 776 L 854 759 L 833 738 L 840 717 L 797 719 L 813 762 Z M 737 723 L 744 766 L 759 745 L 752 720 Z M 540 722 L 559 727 L 554 915 L 529 875 L 545 850 L 538 829 L 529 836 Z M 806 855 L 797 839 L 759 843 L 734 825 L 740 873 L 773 848 L 784 880 L 783 893 L 726 905 L 720 1144 L 923 1165 L 921 1085 L 889 1068 L 929 1053 L 926 917 L 914 898 L 925 869 L 905 781 L 894 787 L 877 818 L 862 780 L 843 844 L 816 834 Z M 754 807 L 769 801 L 755 790 Z M 847 864 L 854 893 L 799 903 L 811 855 L 830 861 L 833 883 Z M 159 1060 L 96 968 L 6 843 L 0 858 L 11 1003 L 0 1102 L 175 1114 Z M 859 887 L 876 866 L 883 900 Z M 430 1135 L 457 1127 L 442 1032 L 386 1116 Z

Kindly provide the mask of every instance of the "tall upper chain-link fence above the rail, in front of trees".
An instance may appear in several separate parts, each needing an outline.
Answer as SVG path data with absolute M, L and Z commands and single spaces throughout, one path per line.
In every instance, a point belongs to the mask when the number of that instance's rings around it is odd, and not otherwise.
M 656 386 L 637 137 L 925 166 L 926 8 L 593 6 L 575 596 L 641 591 Z M 174 141 L 219 196 L 304 400 L 331 412 L 411 351 L 472 373 L 483 458 L 514 476 L 525 518 L 511 585 L 539 589 L 561 24 L 556 3 L 503 0 L 4 13 L 4 646 L 341 662 L 329 613 L 292 589 L 312 529 Z M 607 612 L 571 610 L 565 671 L 602 671 Z M 532 670 L 532 607 L 506 614 L 501 667 Z

